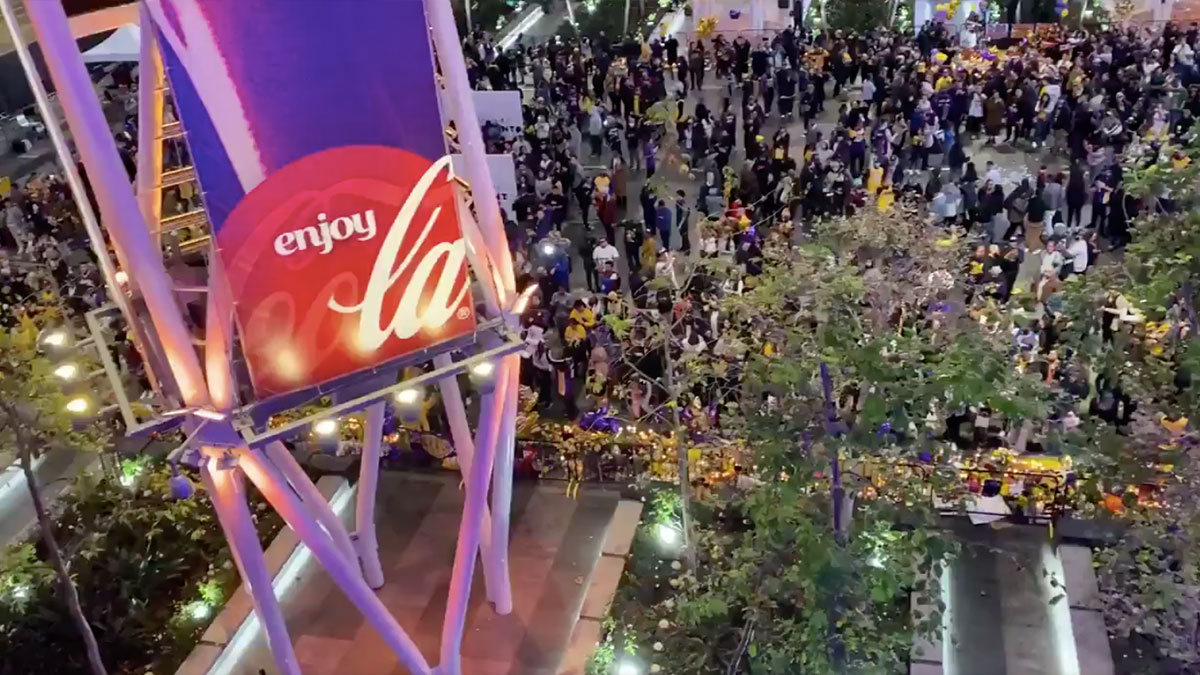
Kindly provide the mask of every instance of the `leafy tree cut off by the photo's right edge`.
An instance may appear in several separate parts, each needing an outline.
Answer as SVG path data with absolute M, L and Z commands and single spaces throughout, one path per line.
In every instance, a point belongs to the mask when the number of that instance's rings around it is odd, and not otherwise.
M 1085 513 L 1121 528 L 1097 551 L 1108 628 L 1123 643 L 1118 656 L 1144 652 L 1183 669 L 1200 664 L 1200 438 L 1188 419 L 1200 366 L 1198 157 L 1195 138 L 1127 153 L 1130 198 L 1115 208 L 1142 214 L 1133 243 L 1067 285 L 1060 319 L 1064 345 L 1094 382 L 1085 405 L 1120 392 L 1128 411 L 1081 416 L 1066 438 L 1086 477 Z

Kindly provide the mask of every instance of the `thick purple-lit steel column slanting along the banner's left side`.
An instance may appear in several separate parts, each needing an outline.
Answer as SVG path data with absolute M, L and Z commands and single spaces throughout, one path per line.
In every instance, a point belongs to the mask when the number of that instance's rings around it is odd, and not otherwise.
M 113 131 L 100 108 L 66 12 L 56 0 L 25 0 L 25 13 L 34 25 L 79 156 L 88 167 L 121 267 L 137 280 L 185 402 L 206 405 L 209 395 L 200 362 L 175 301 L 174 285 L 133 197 L 125 166 L 116 154 Z

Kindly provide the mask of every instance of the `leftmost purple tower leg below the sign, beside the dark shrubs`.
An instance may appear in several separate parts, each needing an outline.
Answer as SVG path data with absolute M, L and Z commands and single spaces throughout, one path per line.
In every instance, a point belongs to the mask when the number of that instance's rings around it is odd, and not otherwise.
M 229 540 L 229 549 L 233 551 L 233 560 L 238 565 L 241 580 L 254 598 L 254 613 L 263 623 L 275 665 L 283 675 L 300 675 L 300 663 L 292 649 L 292 638 L 288 637 L 283 613 L 280 610 L 278 601 L 275 599 L 271 575 L 266 571 L 266 561 L 263 560 L 263 546 L 258 542 L 258 532 L 246 506 L 241 470 L 221 468 L 221 460 L 210 458 L 200 466 L 200 476 L 217 512 L 221 528 Z

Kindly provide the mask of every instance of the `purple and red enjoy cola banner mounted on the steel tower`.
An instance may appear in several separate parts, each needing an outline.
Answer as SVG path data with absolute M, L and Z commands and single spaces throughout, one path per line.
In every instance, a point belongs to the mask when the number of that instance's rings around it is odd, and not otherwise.
M 421 0 L 146 0 L 254 389 L 469 334 Z

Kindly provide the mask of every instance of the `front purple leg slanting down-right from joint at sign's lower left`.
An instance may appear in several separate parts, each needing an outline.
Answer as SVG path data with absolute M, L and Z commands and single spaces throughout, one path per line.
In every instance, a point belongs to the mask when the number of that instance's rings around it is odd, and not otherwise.
M 238 459 L 246 477 L 283 516 L 288 527 L 295 531 L 300 540 L 308 546 L 320 566 L 329 572 L 334 583 L 342 589 L 346 597 L 359 608 L 367 622 L 396 653 L 400 663 L 416 675 L 428 675 L 430 665 L 421 656 L 421 650 L 416 649 L 396 617 L 384 607 L 383 601 L 362 580 L 362 573 L 358 567 L 352 566 L 325 536 L 325 532 L 312 521 L 300 497 L 287 488 L 287 482 L 275 465 L 268 461 L 260 450 L 250 450 L 245 446 L 240 448 Z

